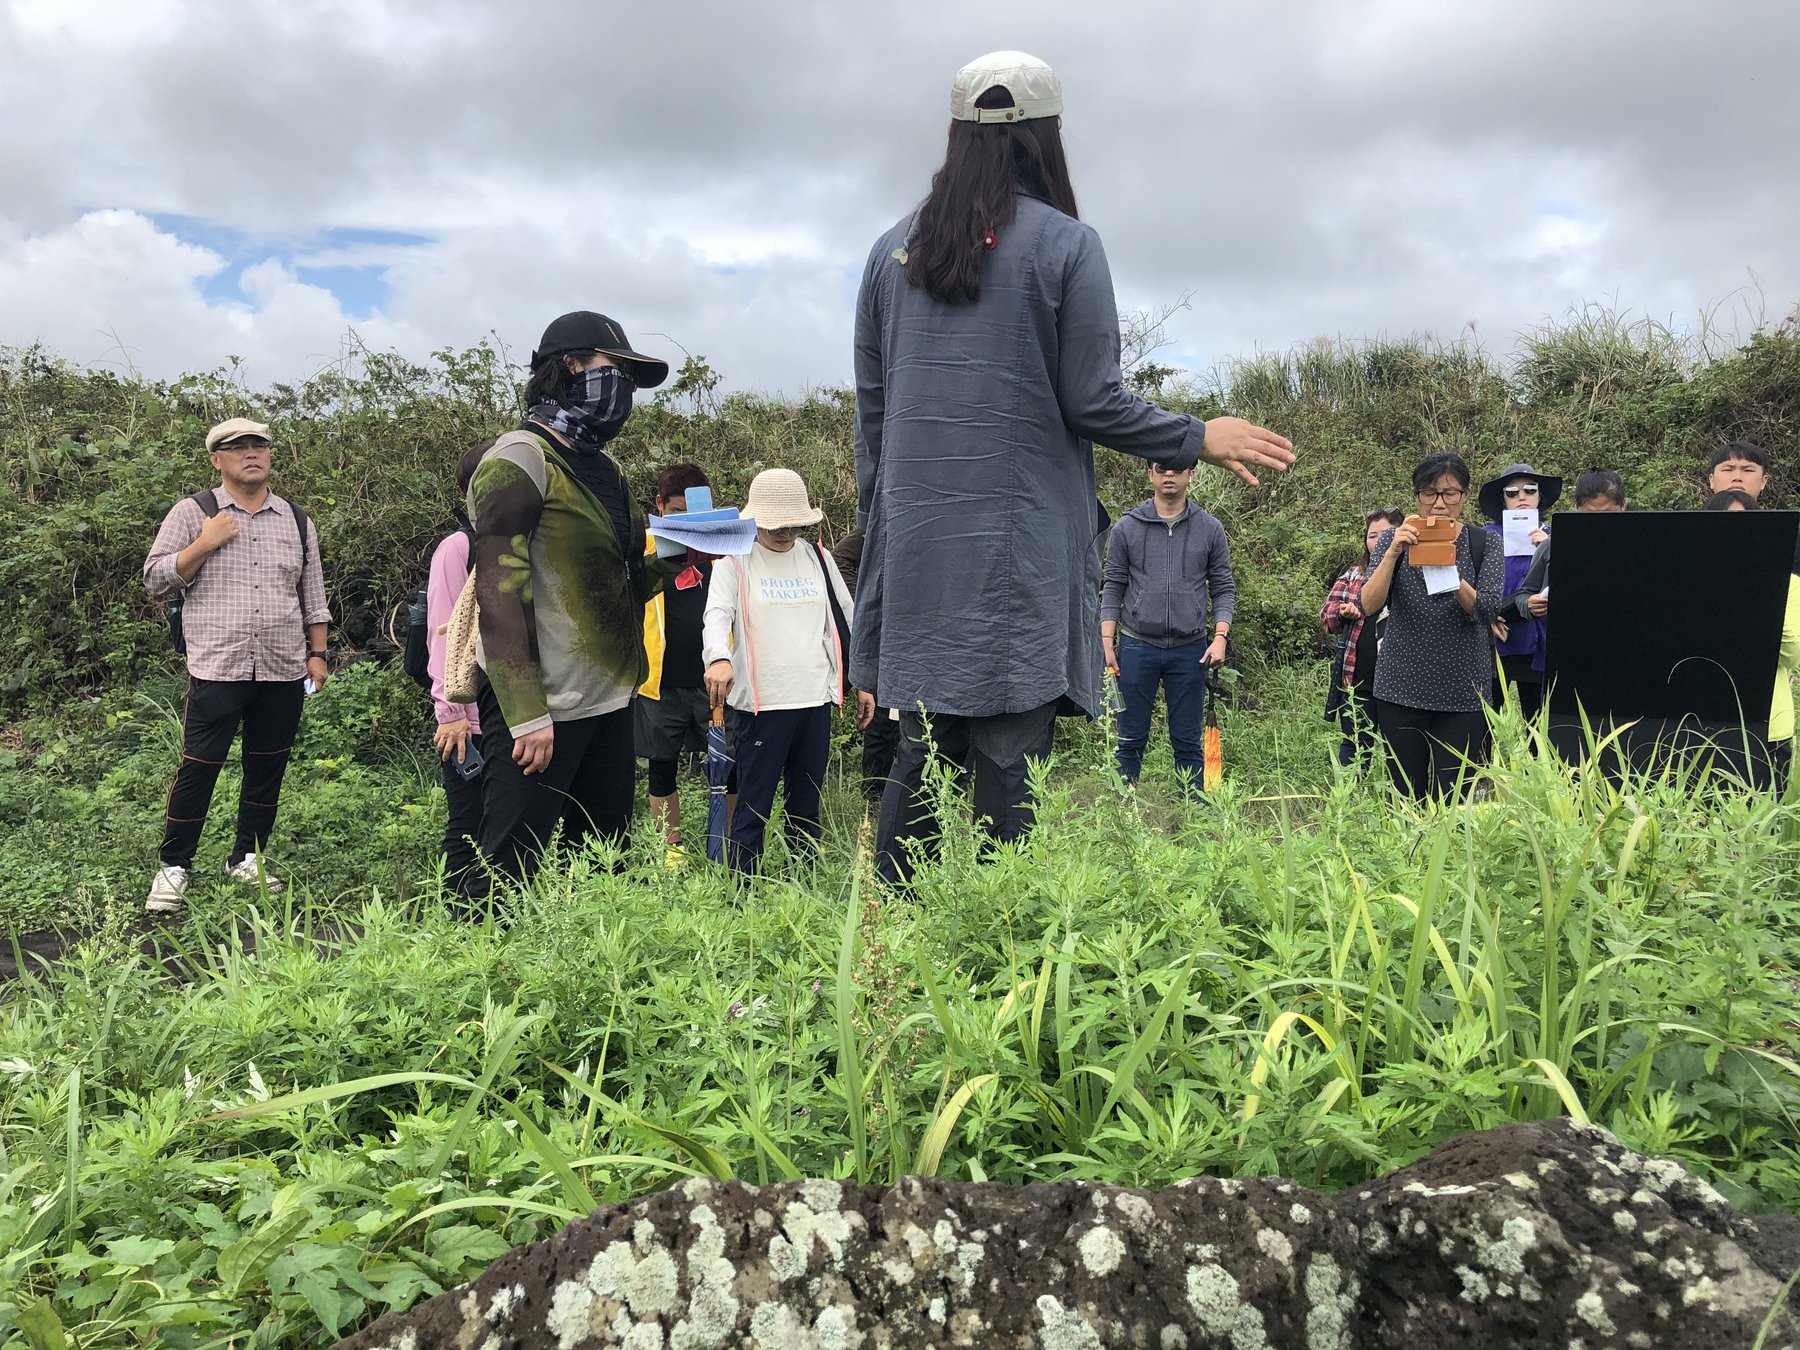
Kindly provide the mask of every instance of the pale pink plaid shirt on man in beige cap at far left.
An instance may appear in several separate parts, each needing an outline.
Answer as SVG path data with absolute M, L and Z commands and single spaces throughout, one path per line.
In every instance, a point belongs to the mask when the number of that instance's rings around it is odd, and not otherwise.
M 220 513 L 238 520 L 238 538 L 200 563 L 182 585 L 175 554 L 200 538 L 205 511 L 184 497 L 162 518 L 144 560 L 144 585 L 157 599 L 182 596 L 187 673 L 203 680 L 297 680 L 306 675 L 306 626 L 331 623 L 319 572 L 319 531 L 301 551 L 299 520 L 275 493 L 252 515 L 223 488 Z

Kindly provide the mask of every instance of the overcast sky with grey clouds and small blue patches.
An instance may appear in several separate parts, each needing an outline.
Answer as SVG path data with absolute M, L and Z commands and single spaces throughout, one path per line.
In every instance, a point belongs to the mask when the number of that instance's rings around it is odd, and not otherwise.
M 0 346 L 254 385 L 563 310 L 842 383 L 869 243 L 1017 47 L 1161 360 L 1800 301 L 1800 4 L 0 0 Z

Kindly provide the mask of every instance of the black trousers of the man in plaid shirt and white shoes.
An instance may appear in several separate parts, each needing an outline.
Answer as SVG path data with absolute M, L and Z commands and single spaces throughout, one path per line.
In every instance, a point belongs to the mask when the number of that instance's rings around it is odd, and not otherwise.
M 301 729 L 301 680 L 202 680 L 187 677 L 182 706 L 182 765 L 175 770 L 162 821 L 162 864 L 191 868 L 212 788 L 243 725 L 243 787 L 238 790 L 238 839 L 229 862 L 261 853 L 275 828 L 281 779 Z

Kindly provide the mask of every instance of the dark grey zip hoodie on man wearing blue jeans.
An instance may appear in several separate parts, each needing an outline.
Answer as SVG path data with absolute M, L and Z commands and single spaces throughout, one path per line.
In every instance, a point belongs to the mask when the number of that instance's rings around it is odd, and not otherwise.
M 1100 619 L 1116 619 L 1127 635 L 1154 646 L 1181 646 L 1206 637 L 1206 599 L 1213 623 L 1231 623 L 1237 581 L 1231 545 L 1219 520 L 1193 502 L 1174 520 L 1156 513 L 1156 500 L 1134 506 L 1112 527 L 1107 545 Z

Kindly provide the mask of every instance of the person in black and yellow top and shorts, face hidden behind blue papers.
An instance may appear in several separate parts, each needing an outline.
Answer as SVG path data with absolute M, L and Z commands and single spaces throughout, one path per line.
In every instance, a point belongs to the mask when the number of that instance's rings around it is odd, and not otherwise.
M 682 515 L 689 488 L 709 488 L 698 464 L 671 464 L 657 475 L 655 515 Z M 706 743 L 713 716 L 700 661 L 700 626 L 713 560 L 693 562 L 644 607 L 650 675 L 637 686 L 637 754 L 650 761 L 650 819 L 668 841 L 670 864 L 680 862 L 680 796 L 675 788 L 682 747 Z

